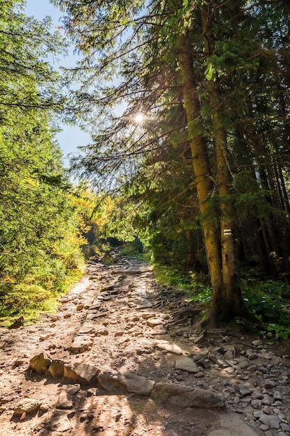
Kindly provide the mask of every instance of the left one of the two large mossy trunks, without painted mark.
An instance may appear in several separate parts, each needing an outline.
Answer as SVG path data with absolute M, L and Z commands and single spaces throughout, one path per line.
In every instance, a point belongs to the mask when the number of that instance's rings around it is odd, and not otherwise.
M 193 56 L 189 36 L 180 38 L 179 62 L 183 84 L 184 108 L 188 126 L 188 139 L 191 145 L 193 171 L 198 191 L 198 202 L 202 216 L 202 230 L 204 232 L 204 245 L 207 253 L 207 263 L 211 278 L 211 325 L 216 326 L 221 306 L 223 289 L 222 260 L 220 253 L 220 228 L 218 225 L 218 211 L 211 204 L 214 196 L 214 183 L 211 179 L 211 168 L 207 154 L 207 144 L 203 135 L 200 115 L 200 100 L 198 98 Z

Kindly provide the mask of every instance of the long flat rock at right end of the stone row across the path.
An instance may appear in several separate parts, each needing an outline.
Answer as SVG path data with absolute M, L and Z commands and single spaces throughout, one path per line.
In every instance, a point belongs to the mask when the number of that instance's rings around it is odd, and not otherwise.
M 223 407 L 225 398 L 214 391 L 185 386 L 183 384 L 156 383 L 152 398 L 167 401 L 179 407 Z

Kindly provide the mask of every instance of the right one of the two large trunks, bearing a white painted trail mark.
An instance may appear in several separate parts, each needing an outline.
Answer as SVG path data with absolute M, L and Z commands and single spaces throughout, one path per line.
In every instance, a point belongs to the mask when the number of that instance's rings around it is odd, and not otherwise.
M 202 33 L 204 49 L 211 56 L 214 49 L 214 38 L 211 32 L 211 11 L 208 6 L 202 7 Z M 245 316 L 245 305 L 241 297 L 241 288 L 236 274 L 236 254 L 234 251 L 234 209 L 231 198 L 232 176 L 227 162 L 227 132 L 223 123 L 223 102 L 220 95 L 219 79 L 208 80 L 209 108 L 212 122 L 212 136 L 216 152 L 216 183 L 220 211 L 220 249 L 223 276 L 223 306 L 218 311 L 223 320 L 235 316 Z

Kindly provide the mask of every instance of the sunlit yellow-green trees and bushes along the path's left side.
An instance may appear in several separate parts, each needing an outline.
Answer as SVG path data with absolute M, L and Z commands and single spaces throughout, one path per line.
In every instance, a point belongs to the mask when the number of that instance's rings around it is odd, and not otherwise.
M 35 318 L 80 276 L 79 220 L 54 138 L 63 82 L 45 61 L 63 51 L 49 20 L 0 0 L 0 317 Z

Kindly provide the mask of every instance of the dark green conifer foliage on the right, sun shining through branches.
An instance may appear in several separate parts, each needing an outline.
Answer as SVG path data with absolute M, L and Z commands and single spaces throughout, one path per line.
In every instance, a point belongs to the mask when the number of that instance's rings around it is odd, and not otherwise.
M 83 75 L 76 105 L 81 125 L 94 134 L 74 168 L 102 192 L 118 192 L 109 213 L 102 211 L 106 220 L 100 232 L 125 241 L 138 235 L 153 260 L 179 270 L 200 263 L 202 270 L 203 234 L 212 238 L 206 241 L 209 263 L 223 257 L 236 264 L 234 250 L 227 251 L 223 235 L 219 238 L 229 223 L 242 261 L 259 258 L 265 275 L 271 256 L 287 265 L 286 2 L 53 3 L 65 12 L 66 31 L 85 54 L 72 77 Z M 124 102 L 124 114 L 116 116 L 115 107 Z M 145 113 L 142 125 L 134 123 L 138 111 Z M 220 281 L 233 283 L 232 277 L 225 279 L 227 271 L 236 274 L 220 265 L 212 277 L 218 294 Z M 180 276 L 169 280 L 183 283 Z M 232 292 L 239 295 L 239 287 Z M 272 310 L 271 292 L 260 295 L 253 310 L 267 304 Z M 209 299 L 208 288 L 195 286 L 193 294 Z

